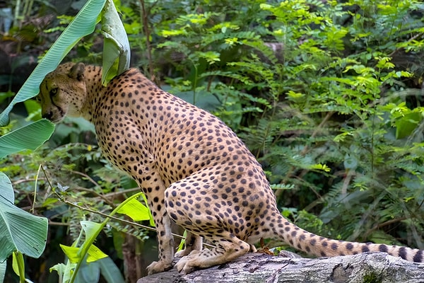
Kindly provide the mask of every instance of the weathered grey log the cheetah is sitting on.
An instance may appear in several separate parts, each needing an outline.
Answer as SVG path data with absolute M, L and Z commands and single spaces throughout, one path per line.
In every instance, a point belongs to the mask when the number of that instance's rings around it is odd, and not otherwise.
M 334 258 L 283 258 L 248 253 L 232 262 L 189 275 L 175 268 L 143 277 L 137 283 L 218 283 L 218 282 L 424 282 L 424 264 L 394 258 L 387 253 L 361 253 Z

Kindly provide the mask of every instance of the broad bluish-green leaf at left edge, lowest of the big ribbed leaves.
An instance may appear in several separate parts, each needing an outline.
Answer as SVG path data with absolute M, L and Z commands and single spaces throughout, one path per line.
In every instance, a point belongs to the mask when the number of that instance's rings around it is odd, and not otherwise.
M 15 207 L 10 180 L 0 172 L 0 262 L 18 251 L 39 258 L 47 240 L 47 219 Z

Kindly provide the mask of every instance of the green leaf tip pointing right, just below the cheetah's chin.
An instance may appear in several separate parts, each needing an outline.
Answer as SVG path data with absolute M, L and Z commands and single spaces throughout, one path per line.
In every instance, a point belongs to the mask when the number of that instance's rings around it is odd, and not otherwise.
M 0 137 L 0 158 L 24 149 L 35 150 L 50 138 L 54 124 L 42 119 Z

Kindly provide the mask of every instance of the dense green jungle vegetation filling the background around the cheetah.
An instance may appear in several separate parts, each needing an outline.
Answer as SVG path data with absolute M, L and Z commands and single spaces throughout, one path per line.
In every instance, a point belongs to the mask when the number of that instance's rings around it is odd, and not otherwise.
M 0 41 L 0 110 L 84 2 L 0 2 L 13 8 Z M 424 4 L 114 3 L 131 66 L 229 125 L 263 166 L 290 221 L 329 238 L 424 249 Z M 64 61 L 101 64 L 102 42 L 97 29 Z M 19 103 L 0 135 L 39 119 L 35 100 Z M 11 180 L 16 206 L 49 221 L 42 256 L 25 257 L 33 282 L 66 282 L 59 245 L 82 243 L 81 221 L 101 223 L 139 192 L 105 161 L 81 119 L 57 125 L 36 151 L 1 158 L 0 172 Z M 155 260 L 155 232 L 116 218 L 95 242 L 110 261 L 83 265 L 76 282 L 135 282 Z M 12 257 L 6 268 L 4 282 L 18 282 Z M 115 268 L 119 275 L 107 274 Z

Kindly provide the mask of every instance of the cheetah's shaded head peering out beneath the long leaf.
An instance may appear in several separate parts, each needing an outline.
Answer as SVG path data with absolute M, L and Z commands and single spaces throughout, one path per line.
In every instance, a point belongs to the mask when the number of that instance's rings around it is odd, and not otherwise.
M 81 116 L 86 99 L 84 70 L 83 63 L 65 63 L 47 74 L 38 94 L 43 118 L 57 123 L 65 115 Z

